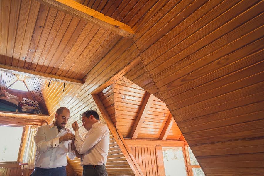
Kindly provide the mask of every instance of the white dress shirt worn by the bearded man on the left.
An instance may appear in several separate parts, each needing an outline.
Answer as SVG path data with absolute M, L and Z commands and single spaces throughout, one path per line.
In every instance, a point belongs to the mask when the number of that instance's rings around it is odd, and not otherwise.
M 71 150 L 72 141 L 62 141 L 59 143 L 59 137 L 67 133 L 72 133 L 69 129 L 63 128 L 60 133 L 57 126 L 40 126 L 34 136 L 37 147 L 35 167 L 43 169 L 66 166 L 68 164 L 66 153 L 71 159 L 75 158 L 75 151 Z

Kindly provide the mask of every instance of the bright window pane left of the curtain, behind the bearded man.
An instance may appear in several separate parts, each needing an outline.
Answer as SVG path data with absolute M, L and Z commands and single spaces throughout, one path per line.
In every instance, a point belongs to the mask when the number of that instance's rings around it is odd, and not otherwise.
M 0 162 L 17 161 L 23 127 L 0 126 Z

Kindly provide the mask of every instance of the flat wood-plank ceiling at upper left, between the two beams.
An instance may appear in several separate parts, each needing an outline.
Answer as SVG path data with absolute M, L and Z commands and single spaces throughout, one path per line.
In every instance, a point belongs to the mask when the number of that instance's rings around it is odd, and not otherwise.
M 91 7 L 118 18 L 112 6 L 112 1 L 102 1 Z M 83 79 L 121 39 L 34 0 L 4 0 L 1 9 L 2 64 Z

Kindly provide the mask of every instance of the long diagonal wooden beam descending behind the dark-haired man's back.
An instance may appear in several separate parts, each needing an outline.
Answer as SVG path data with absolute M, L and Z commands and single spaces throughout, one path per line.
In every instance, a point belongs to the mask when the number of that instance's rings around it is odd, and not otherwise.
M 123 136 L 121 136 L 120 133 L 118 133 L 118 131 L 116 130 L 113 122 L 111 121 L 111 118 L 109 117 L 106 109 L 104 108 L 103 103 L 101 102 L 100 98 L 98 97 L 97 94 L 92 94 L 92 98 L 94 99 L 95 104 L 97 105 L 99 111 L 101 112 L 104 120 L 106 121 L 106 124 L 109 128 L 109 130 L 111 131 L 113 137 L 116 140 L 116 143 L 119 145 L 119 148 L 121 149 L 123 155 L 125 156 L 129 166 L 131 167 L 131 169 L 133 170 L 134 174 L 136 176 L 144 176 L 143 172 L 141 171 L 138 163 L 136 162 L 135 158 L 133 158 L 133 155 L 130 153 L 129 148 L 127 148 L 126 144 L 124 144 L 122 142 Z

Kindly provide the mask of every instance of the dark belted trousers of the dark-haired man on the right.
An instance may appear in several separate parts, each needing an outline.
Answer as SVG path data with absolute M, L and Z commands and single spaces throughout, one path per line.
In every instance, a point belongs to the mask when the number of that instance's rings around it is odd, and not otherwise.
M 105 165 L 87 165 L 83 166 L 82 176 L 108 176 Z

